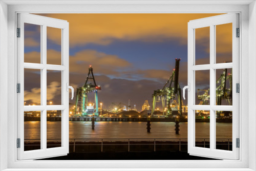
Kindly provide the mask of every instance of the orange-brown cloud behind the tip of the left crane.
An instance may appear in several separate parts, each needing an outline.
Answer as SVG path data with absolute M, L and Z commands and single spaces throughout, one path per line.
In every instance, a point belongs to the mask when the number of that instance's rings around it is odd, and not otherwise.
M 26 61 L 31 63 L 38 62 L 35 56 L 40 56 L 40 53 L 35 51 L 25 53 Z M 47 61 L 48 64 L 60 65 L 61 53 L 53 49 L 47 50 Z M 98 74 L 120 76 L 117 70 L 131 67 L 132 63 L 116 55 L 94 50 L 82 50 L 69 57 L 70 72 L 87 74 L 89 65 L 93 65 Z

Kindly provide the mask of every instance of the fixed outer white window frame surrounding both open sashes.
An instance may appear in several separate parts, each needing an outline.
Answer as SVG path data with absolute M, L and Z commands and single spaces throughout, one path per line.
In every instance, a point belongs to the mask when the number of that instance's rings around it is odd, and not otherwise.
M 7 170 L 255 170 L 256 9 L 254 1 L 1 1 L 0 169 Z M 7 5 L 7 4 L 9 5 Z M 33 3 L 33 4 L 32 4 Z M 62 3 L 62 4 L 61 4 Z M 203 4 L 200 4 L 203 3 Z M 38 5 L 40 4 L 40 5 Z M 44 5 L 42 5 L 44 4 Z M 55 4 L 55 5 L 53 5 Z M 63 5 L 68 4 L 68 5 Z M 73 5 L 70 5 L 73 4 Z M 240 13 L 240 160 L 17 161 L 16 13 Z M 8 16 L 8 19 L 7 19 Z M 250 36 L 249 36 L 250 35 Z M 7 43 L 6 43 L 7 42 Z M 8 56 L 8 58 L 7 58 Z M 6 74 L 8 71 L 8 74 Z M 250 74 L 249 74 L 250 73 Z M 8 88 L 8 91 L 6 91 Z M 250 93 L 248 91 L 250 89 Z M 8 97 L 8 100 L 6 98 Z M 250 99 L 250 100 L 249 100 Z M 250 113 L 248 112 L 250 111 Z M 7 115 L 6 115 L 7 114 Z M 248 131 L 250 130 L 250 136 Z M 14 133 L 14 134 L 13 134 Z M 6 157 L 7 156 L 7 157 Z M 70 167 L 73 168 L 70 168 Z M 20 169 L 19 169 L 20 168 Z M 30 168 L 30 169 L 29 169 Z M 70 169 L 68 169 L 70 168 Z M 123 168 L 123 169 L 122 169 Z M 126 168 L 126 169 L 125 169 Z M 24 170 L 24 169 L 23 169 Z

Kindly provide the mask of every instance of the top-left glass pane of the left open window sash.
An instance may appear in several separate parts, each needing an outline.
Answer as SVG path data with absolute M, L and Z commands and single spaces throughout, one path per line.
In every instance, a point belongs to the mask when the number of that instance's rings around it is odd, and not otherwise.
M 41 26 L 24 23 L 24 62 L 41 63 Z

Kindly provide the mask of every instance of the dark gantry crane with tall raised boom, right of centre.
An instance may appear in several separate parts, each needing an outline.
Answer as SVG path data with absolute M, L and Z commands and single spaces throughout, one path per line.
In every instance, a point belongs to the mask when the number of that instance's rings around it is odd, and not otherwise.
M 153 107 L 152 115 L 154 115 L 157 99 L 161 99 L 163 106 L 163 115 L 172 115 L 172 103 L 170 100 L 178 98 L 179 103 L 179 115 L 182 115 L 182 105 L 181 105 L 181 89 L 179 85 L 179 65 L 180 59 L 175 59 L 175 69 L 172 75 L 169 77 L 168 81 L 165 83 L 163 89 L 155 90 L 153 97 Z M 166 102 L 165 102 L 166 100 Z

